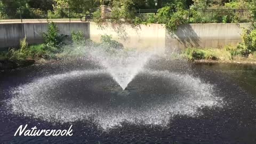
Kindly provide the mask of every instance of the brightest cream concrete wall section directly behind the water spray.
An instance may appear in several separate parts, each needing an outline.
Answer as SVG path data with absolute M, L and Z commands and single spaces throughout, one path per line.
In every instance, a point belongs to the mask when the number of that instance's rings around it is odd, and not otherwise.
M 103 26 L 97 26 L 96 23 L 90 23 L 90 38 L 92 41 L 100 42 L 101 35 L 111 35 L 113 39 L 121 42 L 124 47 L 132 47 L 141 50 L 165 51 L 165 28 L 163 25 L 140 25 L 133 27 L 131 25 L 111 25 L 108 23 Z

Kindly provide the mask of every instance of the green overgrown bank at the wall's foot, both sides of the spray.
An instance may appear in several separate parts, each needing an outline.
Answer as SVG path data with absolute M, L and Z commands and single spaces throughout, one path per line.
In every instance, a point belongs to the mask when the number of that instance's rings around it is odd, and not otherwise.
M 18 48 L 0 52 L 0 70 L 28 66 L 36 61 L 84 58 L 91 49 L 111 53 L 124 48 L 108 35 L 101 36 L 100 43 L 86 39 L 81 31 L 73 31 L 71 36 L 60 35 L 55 23 L 49 23 L 43 37 L 43 44 L 28 45 L 25 37 L 20 39 Z M 189 61 L 256 63 L 256 25 L 244 29 L 241 37 L 243 41 L 236 46 L 228 45 L 222 49 L 193 47 L 185 49 L 181 55 Z

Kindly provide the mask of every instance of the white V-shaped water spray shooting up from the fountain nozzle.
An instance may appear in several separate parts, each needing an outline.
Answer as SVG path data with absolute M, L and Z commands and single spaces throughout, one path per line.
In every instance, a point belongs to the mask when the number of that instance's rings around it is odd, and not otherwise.
M 125 90 L 154 52 L 93 50 L 90 53 L 94 60 L 101 63 L 113 79 Z

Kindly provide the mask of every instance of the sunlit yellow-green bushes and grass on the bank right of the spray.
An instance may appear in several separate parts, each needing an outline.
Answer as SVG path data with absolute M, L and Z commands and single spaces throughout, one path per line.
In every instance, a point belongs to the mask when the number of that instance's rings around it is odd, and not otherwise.
M 242 42 L 236 46 L 227 45 L 222 49 L 190 47 L 182 52 L 189 61 L 210 60 L 221 62 L 256 63 L 256 25 L 243 29 Z

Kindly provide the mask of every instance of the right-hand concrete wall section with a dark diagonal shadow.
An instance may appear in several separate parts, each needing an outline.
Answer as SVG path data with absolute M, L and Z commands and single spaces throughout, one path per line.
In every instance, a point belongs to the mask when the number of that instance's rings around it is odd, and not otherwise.
M 180 50 L 185 47 L 221 48 L 241 42 L 242 28 L 250 23 L 198 23 L 182 25 L 174 33 L 166 31 L 166 50 Z

